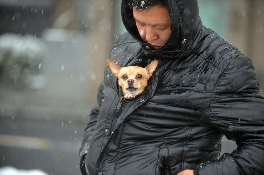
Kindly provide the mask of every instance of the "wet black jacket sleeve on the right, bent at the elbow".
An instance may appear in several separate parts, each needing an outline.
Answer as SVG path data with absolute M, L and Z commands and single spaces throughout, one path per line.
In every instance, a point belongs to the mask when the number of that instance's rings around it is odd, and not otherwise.
M 264 174 L 264 98 L 251 60 L 245 56 L 232 60 L 214 88 L 209 122 L 237 149 L 219 159 L 201 163 L 195 175 Z

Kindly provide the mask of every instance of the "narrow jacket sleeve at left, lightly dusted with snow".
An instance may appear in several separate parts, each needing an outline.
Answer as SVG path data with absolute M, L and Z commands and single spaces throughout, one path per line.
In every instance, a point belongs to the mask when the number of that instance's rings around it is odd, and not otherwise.
M 98 92 L 97 92 L 97 104 L 94 106 L 94 108 L 90 112 L 90 122 L 86 125 L 84 129 L 84 136 L 82 140 L 82 146 L 79 150 L 79 160 L 80 160 L 80 169 L 83 175 L 86 175 L 85 171 L 85 157 L 87 155 L 87 152 L 89 150 L 89 144 L 92 138 L 92 135 L 95 131 L 96 123 L 97 123 L 97 116 L 101 108 L 102 99 L 104 98 L 103 95 L 103 89 L 104 89 L 104 80 L 100 83 Z

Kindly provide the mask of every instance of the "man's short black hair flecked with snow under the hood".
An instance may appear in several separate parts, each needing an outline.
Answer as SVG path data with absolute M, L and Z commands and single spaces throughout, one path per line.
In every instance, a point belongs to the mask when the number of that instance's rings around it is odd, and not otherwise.
M 129 0 L 131 8 L 135 7 L 136 10 L 144 10 L 152 6 L 166 7 L 164 0 Z

